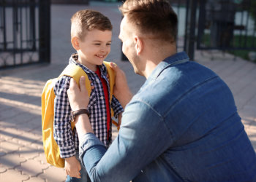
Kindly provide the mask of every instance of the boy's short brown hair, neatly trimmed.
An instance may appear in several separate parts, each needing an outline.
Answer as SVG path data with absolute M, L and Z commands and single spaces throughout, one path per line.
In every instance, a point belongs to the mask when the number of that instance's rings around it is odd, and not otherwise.
M 97 29 L 99 31 L 112 31 L 112 24 L 108 17 L 92 9 L 83 9 L 71 17 L 71 39 L 77 36 L 83 40 L 87 31 Z

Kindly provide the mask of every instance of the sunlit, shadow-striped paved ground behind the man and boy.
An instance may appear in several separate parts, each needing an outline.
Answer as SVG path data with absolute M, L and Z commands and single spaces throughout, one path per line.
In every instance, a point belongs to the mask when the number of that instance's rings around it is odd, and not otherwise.
M 112 51 L 107 60 L 115 60 L 127 74 L 132 92 L 137 92 L 145 79 L 135 75 L 129 62 L 121 61 L 118 41 L 121 15 L 117 4 L 91 3 L 52 5 L 52 56 L 50 65 L 29 66 L 0 71 L 0 181 L 64 181 L 61 168 L 45 162 L 41 134 L 40 96 L 45 82 L 59 75 L 67 65 L 72 50 L 69 40 L 70 17 L 78 9 L 97 9 L 113 23 Z M 214 60 L 211 60 L 214 58 Z M 195 52 L 198 63 L 216 71 L 232 90 L 246 132 L 256 149 L 256 64 L 217 51 Z M 117 135 L 117 133 L 114 133 Z M 115 136 L 114 135 L 114 136 Z

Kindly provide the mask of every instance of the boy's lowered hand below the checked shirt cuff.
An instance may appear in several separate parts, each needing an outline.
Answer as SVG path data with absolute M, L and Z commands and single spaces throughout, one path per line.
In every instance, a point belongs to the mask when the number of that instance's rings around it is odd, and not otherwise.
M 69 175 L 70 177 L 81 178 L 81 165 L 75 156 L 65 158 L 65 170 L 66 174 Z

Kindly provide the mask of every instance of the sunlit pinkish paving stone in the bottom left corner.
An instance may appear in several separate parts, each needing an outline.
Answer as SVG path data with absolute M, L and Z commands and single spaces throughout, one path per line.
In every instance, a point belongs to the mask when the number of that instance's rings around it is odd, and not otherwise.
M 17 170 L 7 170 L 4 173 L 0 173 L 0 181 L 9 182 L 9 181 L 26 181 L 29 179 L 29 175 L 22 175 Z

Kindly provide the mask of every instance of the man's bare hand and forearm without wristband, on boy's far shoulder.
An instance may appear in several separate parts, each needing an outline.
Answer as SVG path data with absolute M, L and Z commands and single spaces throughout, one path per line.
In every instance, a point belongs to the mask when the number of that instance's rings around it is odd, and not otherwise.
M 113 95 L 119 100 L 121 106 L 125 108 L 129 100 L 132 99 L 132 92 L 127 84 L 127 77 L 115 63 L 110 63 L 110 67 L 116 72 L 116 82 L 113 90 Z

